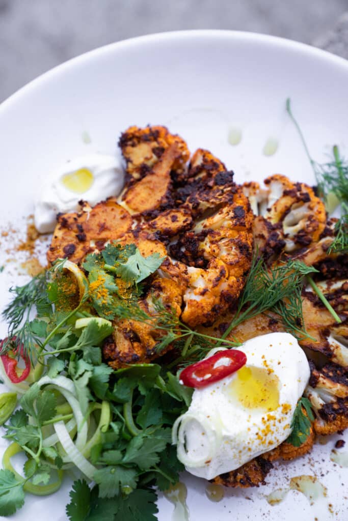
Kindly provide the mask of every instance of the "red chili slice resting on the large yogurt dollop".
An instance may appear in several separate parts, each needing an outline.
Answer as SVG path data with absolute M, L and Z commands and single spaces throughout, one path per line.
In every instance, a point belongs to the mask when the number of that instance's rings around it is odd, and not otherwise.
M 232 375 L 246 363 L 246 354 L 237 349 L 224 349 L 189 365 L 180 374 L 180 380 L 187 387 L 206 387 L 226 376 Z

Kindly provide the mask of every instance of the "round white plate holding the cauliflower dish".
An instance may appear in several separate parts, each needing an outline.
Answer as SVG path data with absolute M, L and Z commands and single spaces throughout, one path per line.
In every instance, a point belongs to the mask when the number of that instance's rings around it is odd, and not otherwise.
M 97 49 L 53 69 L 0 106 L 0 223 L 18 226 L 20 216 L 32 213 L 35 192 L 56 163 L 91 152 L 115 153 L 120 132 L 131 124 L 169 126 L 188 141 L 191 151 L 207 147 L 220 157 L 235 171 L 237 182 L 282 172 L 293 180 L 314 183 L 303 146 L 285 113 L 285 98 L 291 96 L 310 151 L 322 160 L 329 145 L 337 143 L 344 150 L 348 143 L 347 89 L 345 60 L 265 35 L 189 31 Z M 227 141 L 230 126 L 242 129 L 238 146 Z M 262 148 L 269 137 L 279 140 L 279 149 L 266 157 Z M 2 255 L 0 265 L 9 255 L 4 246 Z M 0 305 L 15 278 L 14 264 L 5 265 Z M 17 277 L 17 282 L 23 280 Z M 0 333 L 5 333 L 4 324 Z M 330 461 L 338 438 L 317 445 L 297 462 L 277 466 L 266 487 L 228 491 L 220 503 L 206 498 L 205 482 L 185 476 L 191 521 L 290 521 L 315 516 L 344 521 L 348 469 Z M 5 446 L 4 440 L 1 443 Z M 311 506 L 304 495 L 291 491 L 279 505 L 267 503 L 266 493 L 303 474 L 317 476 L 328 489 L 327 498 Z M 28 496 L 13 519 L 63 521 L 70 484 L 66 479 L 51 497 Z M 160 521 L 171 519 L 172 504 L 161 497 L 159 507 Z

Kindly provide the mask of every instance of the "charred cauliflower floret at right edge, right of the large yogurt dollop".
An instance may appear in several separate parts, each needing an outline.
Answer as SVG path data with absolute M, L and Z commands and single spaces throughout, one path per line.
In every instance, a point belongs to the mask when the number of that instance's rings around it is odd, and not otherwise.
M 316 419 L 317 434 L 328 435 L 348 427 L 348 370 L 338 364 L 327 364 L 321 370 L 311 365 L 305 395 Z

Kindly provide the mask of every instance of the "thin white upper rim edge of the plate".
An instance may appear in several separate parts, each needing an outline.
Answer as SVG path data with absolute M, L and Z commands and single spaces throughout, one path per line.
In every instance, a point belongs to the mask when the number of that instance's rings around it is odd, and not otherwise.
M 125 52 L 128 48 L 134 48 L 143 45 L 151 45 L 154 42 L 176 42 L 181 39 L 198 41 L 200 39 L 209 38 L 214 40 L 234 40 L 236 42 L 255 42 L 256 44 L 263 45 L 268 44 L 273 47 L 283 48 L 287 51 L 290 50 L 295 53 L 304 54 L 309 57 L 322 60 L 323 63 L 337 66 L 338 68 L 341 68 L 348 72 L 348 60 L 346 60 L 345 58 L 332 54 L 318 47 L 314 47 L 313 45 L 298 42 L 295 40 L 290 40 L 287 38 L 282 38 L 281 36 L 273 36 L 270 34 L 258 33 L 253 31 L 235 31 L 228 29 L 189 29 L 182 31 L 164 31 L 145 34 L 141 36 L 134 36 L 132 38 L 112 42 L 91 49 L 90 51 L 79 54 L 78 56 L 64 61 L 62 64 L 59 64 L 47 70 L 40 76 L 29 81 L 21 88 L 19 88 L 17 91 L 15 91 L 13 94 L 8 96 L 2 103 L 0 103 L 0 117 L 7 110 L 10 110 L 11 107 L 13 107 L 17 103 L 17 101 L 20 101 L 22 98 L 25 98 L 27 95 L 30 95 L 30 93 L 37 89 L 40 86 L 40 84 L 44 85 L 44 83 L 49 82 L 51 78 L 64 74 L 66 71 L 69 71 L 69 69 L 72 69 L 75 66 L 82 66 L 90 59 L 95 59 L 98 56 L 112 54 L 114 52 Z

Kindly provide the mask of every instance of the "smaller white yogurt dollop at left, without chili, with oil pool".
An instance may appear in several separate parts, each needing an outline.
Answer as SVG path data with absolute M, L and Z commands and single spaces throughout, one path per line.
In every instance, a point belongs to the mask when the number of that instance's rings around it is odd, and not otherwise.
M 52 232 L 58 213 L 75 212 L 79 201 L 91 206 L 121 193 L 121 159 L 105 154 L 76 157 L 55 168 L 34 202 L 34 223 L 40 233 Z

